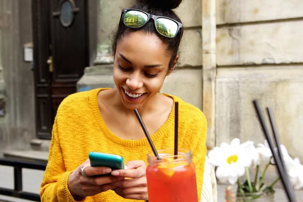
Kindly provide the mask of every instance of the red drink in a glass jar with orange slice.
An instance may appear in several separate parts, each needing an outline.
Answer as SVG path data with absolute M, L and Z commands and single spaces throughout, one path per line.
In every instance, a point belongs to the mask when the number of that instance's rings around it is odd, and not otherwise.
M 161 160 L 148 155 L 146 168 L 149 202 L 198 202 L 195 166 L 191 151 L 179 149 L 158 151 Z

